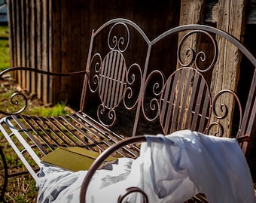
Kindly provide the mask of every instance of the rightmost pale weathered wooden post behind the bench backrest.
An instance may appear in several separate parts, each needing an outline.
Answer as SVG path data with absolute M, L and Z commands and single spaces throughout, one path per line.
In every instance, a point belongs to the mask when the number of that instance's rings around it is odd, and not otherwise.
M 243 41 L 245 32 L 245 5 L 246 0 L 219 0 L 218 2 L 218 21 L 217 28 L 229 32 L 234 37 Z M 218 52 L 222 56 L 218 59 L 217 64 L 212 72 L 212 95 L 215 96 L 221 89 L 233 89 L 237 88 L 239 80 L 239 65 L 241 56 L 238 53 L 238 49 L 231 44 L 224 41 L 223 38 L 217 37 Z M 224 136 L 229 137 L 232 132 L 232 115 L 234 109 L 233 95 L 222 95 L 218 100 L 217 112 L 218 116 L 224 114 L 221 110 L 221 105 L 227 105 L 229 110 L 225 120 L 218 120 L 212 118 L 212 121 L 217 121 L 224 126 Z M 213 128 L 212 131 L 218 131 Z

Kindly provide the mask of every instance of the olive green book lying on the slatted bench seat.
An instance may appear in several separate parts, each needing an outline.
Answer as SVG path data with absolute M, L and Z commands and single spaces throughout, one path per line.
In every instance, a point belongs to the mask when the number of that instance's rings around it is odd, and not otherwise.
M 100 153 L 87 150 L 84 147 L 58 147 L 41 158 L 45 165 L 63 168 L 69 171 L 88 170 Z M 117 160 L 109 156 L 100 167 L 104 167 Z

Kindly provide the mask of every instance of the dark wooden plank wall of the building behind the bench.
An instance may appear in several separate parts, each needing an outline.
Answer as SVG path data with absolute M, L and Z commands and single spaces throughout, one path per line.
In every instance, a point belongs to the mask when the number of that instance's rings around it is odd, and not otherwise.
M 248 36 L 250 45 L 251 32 L 255 34 L 255 5 L 255 0 L 8 0 L 11 66 L 55 72 L 84 69 L 90 31 L 114 17 L 135 21 L 150 34 L 150 39 L 179 24 L 204 23 L 224 29 L 241 40 Z M 248 34 L 247 26 L 251 26 Z M 230 73 L 235 78 L 230 86 L 237 86 L 239 61 L 233 67 L 226 73 L 216 72 L 214 91 L 221 85 L 218 77 L 229 78 Z M 67 99 L 70 104 L 78 105 L 80 78 L 50 78 L 26 71 L 14 77 L 44 102 Z

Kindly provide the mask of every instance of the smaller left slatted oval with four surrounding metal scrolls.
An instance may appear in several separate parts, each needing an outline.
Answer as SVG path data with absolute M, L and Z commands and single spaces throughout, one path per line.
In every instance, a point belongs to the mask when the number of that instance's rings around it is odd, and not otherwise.
M 115 35 L 117 29 L 124 28 L 123 35 Z M 117 33 L 117 34 L 118 34 Z M 101 104 L 97 117 L 102 125 L 111 127 L 116 123 L 116 108 L 123 101 L 127 110 L 132 110 L 138 104 L 139 91 L 134 85 L 142 82 L 142 68 L 133 63 L 129 68 L 123 53 L 130 44 L 130 30 L 125 23 L 115 23 L 108 32 L 109 52 L 102 59 L 99 53 L 90 60 L 89 88 L 91 92 L 99 92 Z

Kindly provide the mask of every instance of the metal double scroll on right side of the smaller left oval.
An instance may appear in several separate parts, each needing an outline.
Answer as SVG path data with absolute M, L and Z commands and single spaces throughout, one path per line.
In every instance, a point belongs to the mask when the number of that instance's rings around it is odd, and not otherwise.
M 126 81 L 128 86 L 123 95 L 123 105 L 127 110 L 133 110 L 139 101 L 140 84 L 142 83 L 142 68 L 139 64 L 134 63 L 128 68 Z M 138 88 L 139 86 L 139 88 Z

